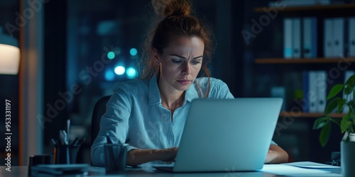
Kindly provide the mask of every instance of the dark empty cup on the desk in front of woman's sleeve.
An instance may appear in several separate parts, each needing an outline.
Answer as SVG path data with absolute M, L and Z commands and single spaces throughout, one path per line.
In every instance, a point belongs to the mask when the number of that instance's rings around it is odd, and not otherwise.
M 125 173 L 128 144 L 104 144 L 106 173 Z

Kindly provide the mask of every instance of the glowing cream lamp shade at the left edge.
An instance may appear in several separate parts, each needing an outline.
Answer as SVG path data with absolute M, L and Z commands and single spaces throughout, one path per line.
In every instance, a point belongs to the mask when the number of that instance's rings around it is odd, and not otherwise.
M 0 74 L 18 74 L 19 64 L 18 41 L 2 33 L 0 28 Z

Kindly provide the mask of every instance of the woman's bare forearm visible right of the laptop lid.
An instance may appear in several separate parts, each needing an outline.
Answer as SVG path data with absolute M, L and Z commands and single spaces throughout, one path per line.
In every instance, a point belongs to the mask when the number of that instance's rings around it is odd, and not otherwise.
M 265 163 L 280 164 L 288 162 L 288 153 L 278 145 L 271 145 L 268 149 Z

